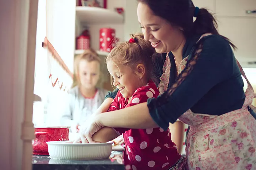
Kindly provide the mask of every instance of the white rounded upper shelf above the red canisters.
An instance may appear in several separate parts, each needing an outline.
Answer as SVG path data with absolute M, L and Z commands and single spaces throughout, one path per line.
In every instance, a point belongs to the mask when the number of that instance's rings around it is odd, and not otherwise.
M 99 7 L 77 6 L 76 16 L 82 24 L 122 24 L 123 15 Z

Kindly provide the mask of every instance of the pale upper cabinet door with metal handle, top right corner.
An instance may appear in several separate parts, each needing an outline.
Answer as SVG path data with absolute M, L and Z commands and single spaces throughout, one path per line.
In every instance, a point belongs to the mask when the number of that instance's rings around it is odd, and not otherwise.
M 256 10 L 256 0 L 216 0 L 218 16 L 256 17 L 256 13 L 246 13 Z

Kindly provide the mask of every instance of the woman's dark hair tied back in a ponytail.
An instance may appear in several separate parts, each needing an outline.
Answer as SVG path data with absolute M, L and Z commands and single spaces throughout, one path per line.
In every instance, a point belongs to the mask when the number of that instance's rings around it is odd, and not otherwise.
M 192 0 L 138 0 L 138 2 L 148 5 L 156 16 L 164 18 L 174 26 L 181 27 L 186 37 L 204 33 L 219 34 L 218 24 L 206 8 L 199 8 L 196 11 L 196 21 L 193 22 L 196 8 Z M 236 49 L 236 46 L 228 38 L 222 37 Z

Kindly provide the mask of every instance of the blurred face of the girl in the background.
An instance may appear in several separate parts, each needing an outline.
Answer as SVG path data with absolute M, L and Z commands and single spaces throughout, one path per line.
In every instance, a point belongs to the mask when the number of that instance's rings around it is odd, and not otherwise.
M 88 62 L 81 60 L 79 62 L 78 75 L 80 84 L 85 89 L 95 88 L 98 79 L 100 78 L 100 63 L 98 61 Z

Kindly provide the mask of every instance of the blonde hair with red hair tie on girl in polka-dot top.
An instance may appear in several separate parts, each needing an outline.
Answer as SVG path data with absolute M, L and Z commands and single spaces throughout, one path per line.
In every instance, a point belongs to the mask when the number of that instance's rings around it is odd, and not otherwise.
M 152 78 L 152 57 L 155 55 L 155 49 L 149 41 L 144 40 L 142 33 L 130 34 L 132 41 L 119 42 L 109 53 L 106 63 L 127 65 L 131 68 L 143 63 L 146 69 L 146 76 Z

